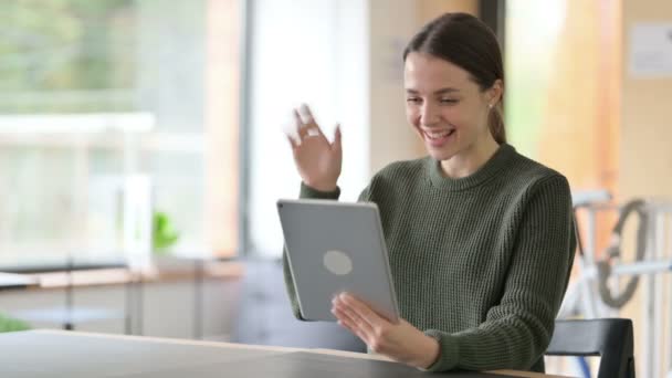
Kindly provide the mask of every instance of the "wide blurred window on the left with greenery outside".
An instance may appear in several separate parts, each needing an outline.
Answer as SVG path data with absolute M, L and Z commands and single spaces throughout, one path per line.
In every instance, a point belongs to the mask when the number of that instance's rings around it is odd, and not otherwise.
M 146 254 L 159 212 L 172 253 L 234 253 L 239 21 L 218 0 L 0 3 L 0 265 Z

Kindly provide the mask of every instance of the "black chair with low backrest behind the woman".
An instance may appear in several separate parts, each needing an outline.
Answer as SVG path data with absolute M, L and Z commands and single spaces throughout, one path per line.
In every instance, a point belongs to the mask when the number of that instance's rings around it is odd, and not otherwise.
M 547 356 L 600 356 L 597 378 L 634 378 L 632 321 L 556 321 Z

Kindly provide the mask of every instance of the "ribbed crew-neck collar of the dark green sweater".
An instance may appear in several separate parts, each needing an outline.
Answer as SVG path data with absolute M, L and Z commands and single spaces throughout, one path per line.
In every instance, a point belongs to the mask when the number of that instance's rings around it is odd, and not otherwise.
M 435 160 L 431 156 L 428 157 L 427 167 L 432 186 L 448 190 L 465 190 L 486 181 L 504 169 L 511 159 L 515 156 L 516 150 L 507 144 L 500 145 L 500 148 L 485 164 L 470 176 L 453 179 L 444 177 L 441 169 L 441 161 Z

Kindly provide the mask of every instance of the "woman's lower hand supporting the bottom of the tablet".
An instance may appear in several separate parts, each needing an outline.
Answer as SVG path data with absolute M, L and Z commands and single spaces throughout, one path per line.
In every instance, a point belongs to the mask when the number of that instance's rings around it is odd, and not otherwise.
M 439 343 L 405 319 L 390 323 L 364 302 L 342 293 L 332 301 L 338 324 L 359 337 L 374 351 L 418 368 L 431 366 L 439 356 Z

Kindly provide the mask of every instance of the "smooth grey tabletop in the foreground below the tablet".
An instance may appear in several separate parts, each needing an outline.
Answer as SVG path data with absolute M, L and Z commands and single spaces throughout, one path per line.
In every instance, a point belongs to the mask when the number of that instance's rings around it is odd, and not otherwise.
M 426 374 L 381 356 L 66 330 L 0 334 L 0 377 L 465 377 Z M 550 378 L 496 371 L 483 377 Z M 470 376 L 472 377 L 472 376 Z M 479 375 L 473 376 L 477 378 Z

